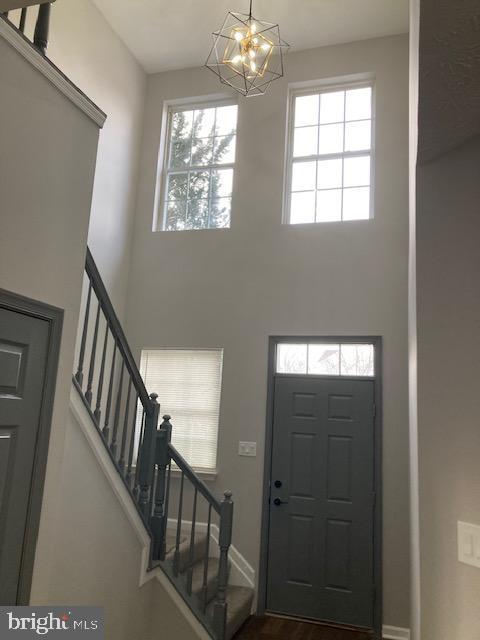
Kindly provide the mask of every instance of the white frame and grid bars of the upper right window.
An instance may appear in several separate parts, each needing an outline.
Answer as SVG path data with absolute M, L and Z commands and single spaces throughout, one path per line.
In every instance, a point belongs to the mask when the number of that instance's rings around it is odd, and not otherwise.
M 291 223 L 290 222 L 290 212 L 291 212 L 291 197 L 292 197 L 292 175 L 293 175 L 293 165 L 294 161 L 296 162 L 312 162 L 319 160 L 331 160 L 338 158 L 350 158 L 350 157 L 359 157 L 365 155 L 365 150 L 362 151 L 342 151 L 339 153 L 331 153 L 331 154 L 316 154 L 311 156 L 302 156 L 301 159 L 295 159 L 293 156 L 293 147 L 294 147 L 294 133 L 295 133 L 295 101 L 298 97 L 303 96 L 312 96 L 312 95 L 321 95 L 322 93 L 335 93 L 336 91 L 348 91 L 350 89 L 364 89 L 371 88 L 372 90 L 372 103 L 371 103 L 371 146 L 370 146 L 370 201 L 369 201 L 369 217 L 358 220 L 344 220 L 343 219 L 343 191 L 344 187 L 342 184 L 342 218 L 340 220 L 329 220 L 325 222 L 317 222 L 314 220 L 313 222 L 301 222 L 301 223 Z M 375 91 L 375 80 L 373 77 L 362 80 L 352 80 L 350 82 L 329 82 L 328 84 L 310 84 L 308 86 L 303 86 L 302 88 L 292 88 L 289 91 L 288 95 L 288 111 L 287 111 L 287 136 L 286 136 L 286 156 L 285 156 L 285 179 L 284 179 L 284 193 L 283 193 L 283 216 L 282 222 L 287 227 L 295 228 L 295 227 L 311 227 L 312 225 L 325 225 L 325 224 L 341 224 L 344 222 L 369 222 L 375 218 L 375 134 L 376 134 L 376 114 L 375 114 L 375 105 L 376 105 L 376 91 Z M 345 124 L 346 121 L 343 121 L 343 139 L 345 144 Z M 315 190 L 318 191 L 315 185 Z M 316 212 L 315 212 L 316 213 Z

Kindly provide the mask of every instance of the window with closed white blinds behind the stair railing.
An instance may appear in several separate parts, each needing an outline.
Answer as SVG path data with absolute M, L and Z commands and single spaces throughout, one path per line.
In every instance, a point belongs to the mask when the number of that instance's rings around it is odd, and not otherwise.
M 194 468 L 217 465 L 223 349 L 145 349 L 140 372 L 160 412 L 172 416 L 172 444 Z

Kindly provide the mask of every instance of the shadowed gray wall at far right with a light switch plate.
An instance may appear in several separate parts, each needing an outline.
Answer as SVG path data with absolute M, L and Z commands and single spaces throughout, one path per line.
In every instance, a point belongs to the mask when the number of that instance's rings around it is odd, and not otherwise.
M 422 640 L 478 640 L 480 570 L 457 520 L 480 525 L 480 139 L 418 169 L 417 330 Z

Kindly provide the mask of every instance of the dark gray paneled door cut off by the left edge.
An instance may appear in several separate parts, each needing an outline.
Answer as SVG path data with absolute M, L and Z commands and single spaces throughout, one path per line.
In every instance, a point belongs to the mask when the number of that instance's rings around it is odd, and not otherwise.
M 0 307 L 0 605 L 18 598 L 49 330 Z

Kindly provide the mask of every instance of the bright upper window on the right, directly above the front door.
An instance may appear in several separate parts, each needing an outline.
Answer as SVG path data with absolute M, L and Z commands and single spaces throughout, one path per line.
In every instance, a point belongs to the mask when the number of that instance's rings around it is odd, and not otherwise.
M 292 97 L 287 182 L 290 224 L 372 216 L 372 87 Z

